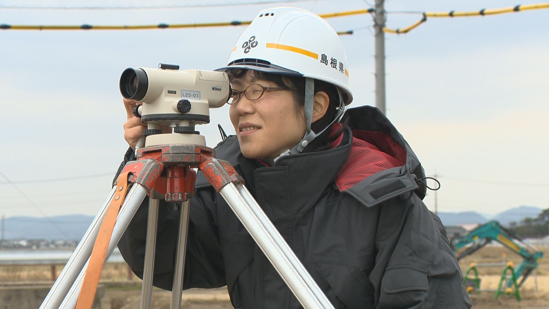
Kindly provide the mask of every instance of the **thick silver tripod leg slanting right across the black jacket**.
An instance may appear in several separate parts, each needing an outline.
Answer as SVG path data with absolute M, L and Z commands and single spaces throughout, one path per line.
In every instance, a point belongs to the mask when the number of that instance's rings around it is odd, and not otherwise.
M 301 306 L 334 309 L 250 191 L 240 183 L 228 183 L 219 192 Z

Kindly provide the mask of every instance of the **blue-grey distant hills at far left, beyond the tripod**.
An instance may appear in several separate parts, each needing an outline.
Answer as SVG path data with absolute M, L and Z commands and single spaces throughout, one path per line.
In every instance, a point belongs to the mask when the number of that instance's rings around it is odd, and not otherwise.
M 83 214 L 49 217 L 49 220 L 43 217 L 9 217 L 4 221 L 4 239 L 80 240 L 93 218 Z

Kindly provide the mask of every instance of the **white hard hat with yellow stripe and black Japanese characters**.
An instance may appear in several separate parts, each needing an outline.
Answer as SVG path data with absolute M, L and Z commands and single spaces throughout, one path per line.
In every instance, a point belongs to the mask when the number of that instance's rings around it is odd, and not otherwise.
M 351 103 L 347 56 L 337 33 L 320 16 L 299 8 L 257 13 L 233 48 L 226 71 L 244 68 L 326 81 Z

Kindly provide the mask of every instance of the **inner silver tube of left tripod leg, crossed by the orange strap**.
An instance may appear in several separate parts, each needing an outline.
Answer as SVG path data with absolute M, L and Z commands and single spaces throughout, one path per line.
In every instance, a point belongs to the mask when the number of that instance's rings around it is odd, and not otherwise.
M 116 218 L 116 225 L 114 227 L 113 235 L 111 236 L 111 240 L 109 242 L 109 248 L 107 250 L 107 258 L 105 259 L 105 263 L 109 259 L 108 257 L 111 255 L 111 253 L 113 253 L 116 244 L 118 244 L 118 241 L 122 237 L 122 234 L 124 234 L 124 231 L 126 231 L 126 228 L 128 227 L 133 216 L 137 212 L 137 209 L 143 202 L 143 198 L 147 196 L 147 192 L 148 190 L 144 186 L 139 184 L 133 184 L 130 191 L 126 195 L 124 203 L 120 208 L 118 217 Z M 88 261 L 89 254 L 90 253 L 88 253 L 87 255 Z M 86 269 L 87 262 L 86 266 L 82 268 L 82 271 L 74 281 L 74 284 L 72 284 L 69 293 L 66 294 L 65 299 L 63 300 L 63 302 L 61 302 L 59 308 L 72 309 L 76 306 L 76 301 L 78 300 L 78 295 L 80 294 L 80 289 L 82 288 L 82 282 L 84 279 L 84 275 L 86 274 Z

